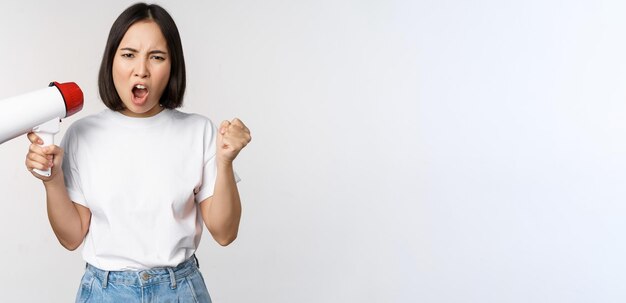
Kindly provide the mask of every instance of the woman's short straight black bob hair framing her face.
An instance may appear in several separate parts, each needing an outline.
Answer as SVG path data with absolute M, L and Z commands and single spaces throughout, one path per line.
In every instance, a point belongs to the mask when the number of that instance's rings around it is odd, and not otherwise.
M 113 83 L 113 59 L 128 28 L 136 22 L 143 20 L 152 20 L 159 26 L 161 33 L 167 41 L 167 48 L 171 58 L 170 78 L 159 103 L 169 109 L 183 105 L 186 85 L 185 58 L 176 23 L 174 23 L 172 16 L 161 6 L 137 3 L 122 12 L 111 26 L 109 38 L 104 48 L 104 55 L 102 56 L 102 63 L 100 64 L 100 72 L 98 73 L 100 98 L 102 98 L 102 102 L 108 108 L 114 111 L 123 110 L 125 106 Z

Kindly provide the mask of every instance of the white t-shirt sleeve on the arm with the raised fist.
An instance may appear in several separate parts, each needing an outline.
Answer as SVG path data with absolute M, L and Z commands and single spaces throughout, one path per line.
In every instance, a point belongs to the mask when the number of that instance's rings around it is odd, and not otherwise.
M 204 165 L 202 167 L 202 184 L 198 192 L 196 193 L 195 200 L 197 203 L 204 201 L 206 198 L 213 196 L 215 190 L 215 180 L 217 179 L 217 127 L 207 120 L 204 129 Z M 235 172 L 235 182 L 239 182 L 241 179 Z

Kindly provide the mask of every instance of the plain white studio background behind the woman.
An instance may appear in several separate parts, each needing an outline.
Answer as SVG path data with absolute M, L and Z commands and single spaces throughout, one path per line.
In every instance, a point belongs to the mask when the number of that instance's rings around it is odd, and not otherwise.
M 75 81 L 62 128 L 103 109 L 130 4 L 3 2 L 0 99 Z M 215 302 L 626 301 L 623 1 L 160 4 L 182 110 L 253 132 L 239 238 L 198 251 Z M 27 146 L 0 146 L 0 301 L 72 302 Z

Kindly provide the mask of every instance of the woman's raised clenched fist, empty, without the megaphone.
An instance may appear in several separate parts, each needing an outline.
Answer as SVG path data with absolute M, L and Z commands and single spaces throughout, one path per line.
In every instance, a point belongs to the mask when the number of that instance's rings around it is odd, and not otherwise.
M 229 164 L 239 152 L 252 140 L 250 130 L 235 118 L 232 121 L 223 121 L 217 134 L 217 160 Z

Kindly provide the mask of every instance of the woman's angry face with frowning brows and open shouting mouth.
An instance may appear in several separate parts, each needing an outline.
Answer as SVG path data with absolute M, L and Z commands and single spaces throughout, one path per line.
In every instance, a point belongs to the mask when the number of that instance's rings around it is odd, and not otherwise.
M 128 28 L 113 58 L 113 83 L 125 105 L 122 114 L 151 117 L 161 112 L 161 95 L 170 78 L 167 42 L 152 20 Z

